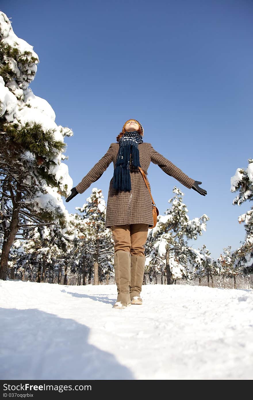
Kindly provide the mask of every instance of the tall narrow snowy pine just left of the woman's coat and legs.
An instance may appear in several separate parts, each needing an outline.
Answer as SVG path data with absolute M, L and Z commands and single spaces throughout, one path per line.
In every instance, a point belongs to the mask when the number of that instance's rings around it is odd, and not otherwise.
M 94 260 L 94 285 L 107 281 L 113 275 L 114 241 L 112 232 L 105 228 L 106 203 L 102 190 L 92 189 L 92 194 L 82 207 L 76 210 L 82 212 L 86 222 L 88 236 L 84 238 L 84 249 Z

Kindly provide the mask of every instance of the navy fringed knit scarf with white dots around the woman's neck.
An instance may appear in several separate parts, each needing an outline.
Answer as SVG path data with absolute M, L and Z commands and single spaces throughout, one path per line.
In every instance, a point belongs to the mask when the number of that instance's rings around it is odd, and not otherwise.
M 143 143 L 143 139 L 138 130 L 125 132 L 120 138 L 120 148 L 114 168 L 114 188 L 116 190 L 131 190 L 130 178 L 130 162 L 133 167 L 141 167 L 139 163 L 139 143 Z

